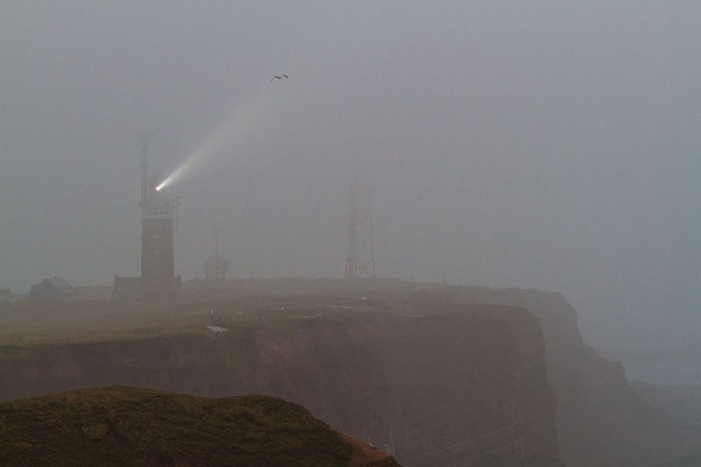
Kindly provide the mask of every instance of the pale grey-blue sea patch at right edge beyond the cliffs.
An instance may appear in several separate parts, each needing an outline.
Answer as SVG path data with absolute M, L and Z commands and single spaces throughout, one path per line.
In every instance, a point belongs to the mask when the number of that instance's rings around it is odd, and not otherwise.
M 652 384 L 701 386 L 701 353 L 657 360 L 623 361 L 628 379 Z

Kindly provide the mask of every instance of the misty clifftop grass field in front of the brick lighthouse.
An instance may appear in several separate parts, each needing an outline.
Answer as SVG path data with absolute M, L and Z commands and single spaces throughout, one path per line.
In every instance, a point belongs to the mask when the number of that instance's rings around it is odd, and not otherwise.
M 343 315 L 348 307 L 313 295 L 244 297 L 206 303 L 108 301 L 19 302 L 0 305 L 0 346 L 129 340 L 177 333 L 209 333 L 211 313 L 226 326 Z M 271 321 L 266 321 L 271 323 Z

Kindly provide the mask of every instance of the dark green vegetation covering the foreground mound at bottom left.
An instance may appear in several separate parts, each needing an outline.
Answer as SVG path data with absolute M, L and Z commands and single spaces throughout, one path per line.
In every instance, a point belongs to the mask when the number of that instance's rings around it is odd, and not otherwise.
M 347 466 L 351 447 L 299 405 L 113 386 L 0 404 L 2 466 Z

